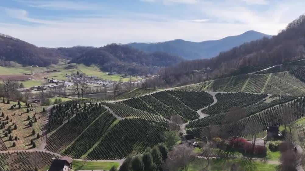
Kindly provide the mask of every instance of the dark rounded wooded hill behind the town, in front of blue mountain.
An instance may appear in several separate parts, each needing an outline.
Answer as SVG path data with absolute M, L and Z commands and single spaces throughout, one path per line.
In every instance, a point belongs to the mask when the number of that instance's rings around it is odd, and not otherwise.
M 144 53 L 130 46 L 113 43 L 86 50 L 79 57 L 73 58 L 70 63 L 83 63 L 88 66 L 97 64 L 104 71 L 134 75 L 153 73 L 160 67 L 172 66 L 181 61 L 182 58 L 167 53 Z

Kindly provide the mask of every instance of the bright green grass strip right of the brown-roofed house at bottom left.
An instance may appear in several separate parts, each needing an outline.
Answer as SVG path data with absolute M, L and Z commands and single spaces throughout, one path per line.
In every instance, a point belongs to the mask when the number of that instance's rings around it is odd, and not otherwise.
M 72 169 L 74 170 L 110 170 L 112 166 L 115 166 L 116 168 L 120 164 L 118 162 L 86 162 L 84 163 L 82 161 L 73 160 L 72 162 Z

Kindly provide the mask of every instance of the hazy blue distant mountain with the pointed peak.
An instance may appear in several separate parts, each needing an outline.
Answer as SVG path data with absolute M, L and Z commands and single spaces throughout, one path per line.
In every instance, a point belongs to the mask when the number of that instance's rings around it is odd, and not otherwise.
M 208 40 L 203 42 L 190 42 L 176 39 L 160 43 L 129 43 L 127 45 L 145 52 L 165 52 L 183 57 L 186 60 L 207 59 L 218 55 L 222 51 L 230 50 L 242 43 L 271 37 L 261 32 L 247 31 L 238 36 L 229 36 L 220 40 Z

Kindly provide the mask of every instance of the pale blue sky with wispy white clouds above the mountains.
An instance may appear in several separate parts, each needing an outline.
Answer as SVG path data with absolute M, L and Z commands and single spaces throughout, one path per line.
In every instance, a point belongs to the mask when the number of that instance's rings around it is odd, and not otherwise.
M 304 0 L 2 0 L 0 33 L 36 46 L 200 42 L 255 30 L 276 35 Z

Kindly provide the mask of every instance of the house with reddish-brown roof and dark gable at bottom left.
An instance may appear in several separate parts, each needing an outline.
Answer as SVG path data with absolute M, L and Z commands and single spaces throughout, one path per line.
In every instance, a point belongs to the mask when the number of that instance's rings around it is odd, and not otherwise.
M 63 156 L 60 159 L 53 160 L 48 171 L 69 171 L 72 169 L 72 159 L 68 156 Z

